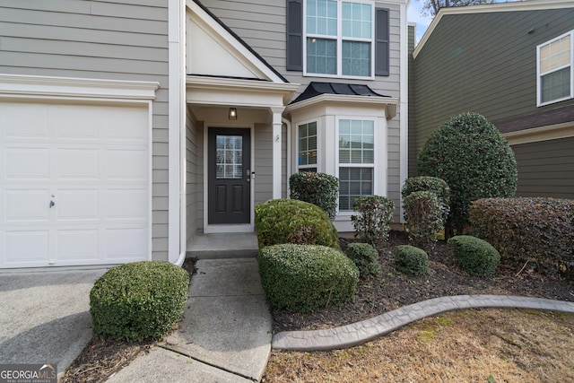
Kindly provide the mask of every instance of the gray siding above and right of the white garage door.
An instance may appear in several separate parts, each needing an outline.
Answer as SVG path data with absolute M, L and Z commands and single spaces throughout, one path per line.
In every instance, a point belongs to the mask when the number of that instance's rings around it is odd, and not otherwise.
M 167 35 L 167 2 L 0 2 L 0 73 L 161 83 L 152 105 L 154 259 L 168 257 Z

